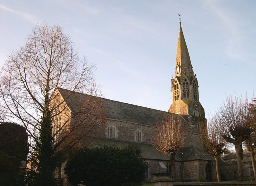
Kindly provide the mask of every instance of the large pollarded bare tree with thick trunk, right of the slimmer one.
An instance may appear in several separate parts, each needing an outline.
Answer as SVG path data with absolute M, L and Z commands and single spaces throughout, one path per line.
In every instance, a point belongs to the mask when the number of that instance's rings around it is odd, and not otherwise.
M 234 144 L 236 150 L 238 181 L 243 180 L 243 148 L 242 143 L 250 139 L 255 131 L 255 125 L 251 120 L 251 113 L 248 111 L 249 100 L 242 97 L 226 97 L 226 101 L 220 105 L 216 112 L 216 120 L 221 127 L 221 134 L 224 139 Z

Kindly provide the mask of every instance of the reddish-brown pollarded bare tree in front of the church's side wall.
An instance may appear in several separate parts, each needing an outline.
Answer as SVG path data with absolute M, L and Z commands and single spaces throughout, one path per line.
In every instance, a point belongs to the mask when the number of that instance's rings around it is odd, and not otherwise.
M 180 116 L 170 113 L 157 125 L 151 140 L 154 148 L 170 156 L 171 178 L 175 180 L 175 154 L 182 148 L 188 134 L 188 127 L 182 125 Z

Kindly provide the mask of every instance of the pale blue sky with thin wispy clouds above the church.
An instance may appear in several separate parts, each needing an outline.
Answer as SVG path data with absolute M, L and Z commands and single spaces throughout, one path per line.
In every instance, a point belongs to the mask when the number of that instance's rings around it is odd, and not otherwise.
M 168 111 L 179 16 L 206 118 L 256 95 L 255 0 L 0 0 L 0 65 L 36 24 L 59 25 L 104 97 Z

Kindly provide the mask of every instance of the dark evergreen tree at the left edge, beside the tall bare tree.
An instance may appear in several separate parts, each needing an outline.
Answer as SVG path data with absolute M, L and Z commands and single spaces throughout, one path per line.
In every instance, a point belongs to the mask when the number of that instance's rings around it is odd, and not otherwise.
M 0 123 L 0 185 L 24 184 L 28 134 L 16 123 Z

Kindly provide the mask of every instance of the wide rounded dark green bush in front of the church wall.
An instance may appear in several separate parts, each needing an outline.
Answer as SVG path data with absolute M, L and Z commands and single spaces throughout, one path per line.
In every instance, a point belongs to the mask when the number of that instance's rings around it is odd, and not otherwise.
M 147 165 L 137 146 L 83 148 L 65 167 L 68 182 L 86 186 L 141 185 Z

